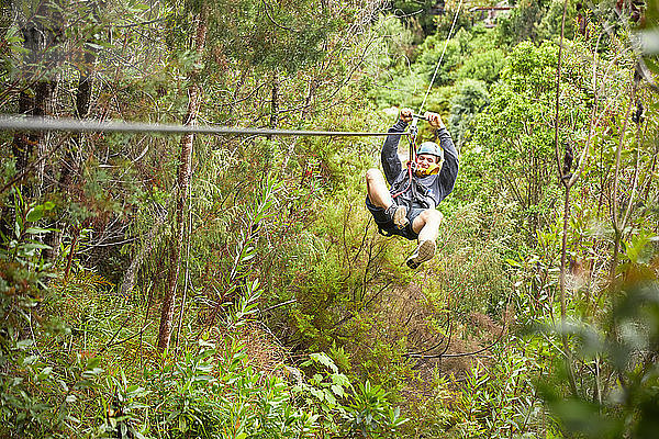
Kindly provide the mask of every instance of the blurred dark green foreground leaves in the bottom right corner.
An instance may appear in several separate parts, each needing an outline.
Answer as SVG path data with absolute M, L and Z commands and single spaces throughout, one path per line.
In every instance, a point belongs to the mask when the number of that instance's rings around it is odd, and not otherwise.
M 646 280 L 626 284 L 617 294 L 603 325 L 576 323 L 561 330 L 576 339 L 578 358 L 597 364 L 600 373 L 588 375 L 580 393 L 568 398 L 547 380 L 544 397 L 567 431 L 587 438 L 650 438 L 659 412 L 659 289 L 655 280 Z M 563 378 L 565 370 L 557 369 L 555 376 Z M 605 379 L 613 375 L 613 382 Z

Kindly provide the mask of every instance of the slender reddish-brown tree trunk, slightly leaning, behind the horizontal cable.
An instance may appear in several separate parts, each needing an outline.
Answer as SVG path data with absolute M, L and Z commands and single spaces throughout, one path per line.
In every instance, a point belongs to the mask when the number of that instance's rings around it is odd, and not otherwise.
M 197 34 L 194 38 L 194 49 L 198 56 L 201 57 L 205 45 L 206 36 L 206 19 L 202 13 L 197 18 Z M 199 71 L 194 70 L 190 74 L 190 88 L 188 90 L 189 101 L 188 111 L 183 119 L 185 125 L 193 125 L 197 120 L 199 104 L 201 100 L 201 79 Z M 176 302 L 176 290 L 178 284 L 180 255 L 183 246 L 183 211 L 188 199 L 188 185 L 190 183 L 190 170 L 192 159 L 192 143 L 193 134 L 185 134 L 181 138 L 181 157 L 178 172 L 178 190 L 177 190 L 177 206 L 176 206 L 176 233 L 171 240 L 171 250 L 169 256 L 169 272 L 167 275 L 167 291 L 163 300 L 163 309 L 160 312 L 160 329 L 158 334 L 158 348 L 167 349 L 169 339 L 171 338 L 171 327 L 174 318 L 174 307 Z

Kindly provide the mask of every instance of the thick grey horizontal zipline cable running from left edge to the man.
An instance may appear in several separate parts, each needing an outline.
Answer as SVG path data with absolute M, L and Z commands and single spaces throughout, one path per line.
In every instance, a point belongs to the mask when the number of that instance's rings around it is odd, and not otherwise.
M 213 134 L 234 136 L 337 136 L 367 137 L 388 136 L 391 133 L 344 132 L 344 131 L 298 131 L 235 128 L 215 125 L 175 125 L 123 121 L 80 121 L 76 119 L 33 117 L 0 114 L 0 131 L 65 131 L 74 133 L 158 133 L 158 134 Z M 401 133 L 406 134 L 406 133 Z

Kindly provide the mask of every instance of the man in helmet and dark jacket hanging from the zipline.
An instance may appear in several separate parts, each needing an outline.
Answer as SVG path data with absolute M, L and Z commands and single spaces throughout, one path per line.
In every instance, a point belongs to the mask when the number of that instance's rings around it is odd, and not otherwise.
M 400 120 L 389 133 L 403 133 L 412 122 L 412 114 L 410 109 L 401 110 Z M 458 151 L 442 117 L 437 113 L 425 113 L 424 117 L 437 128 L 439 145 L 422 143 L 415 161 L 403 167 L 398 157 L 401 134 L 389 135 L 382 145 L 384 176 L 375 168 L 366 172 L 366 206 L 380 233 L 418 239 L 416 251 L 406 261 L 412 269 L 435 256 L 435 240 L 443 218 L 435 207 L 453 191 L 458 176 Z M 384 177 L 391 189 L 387 189 Z

